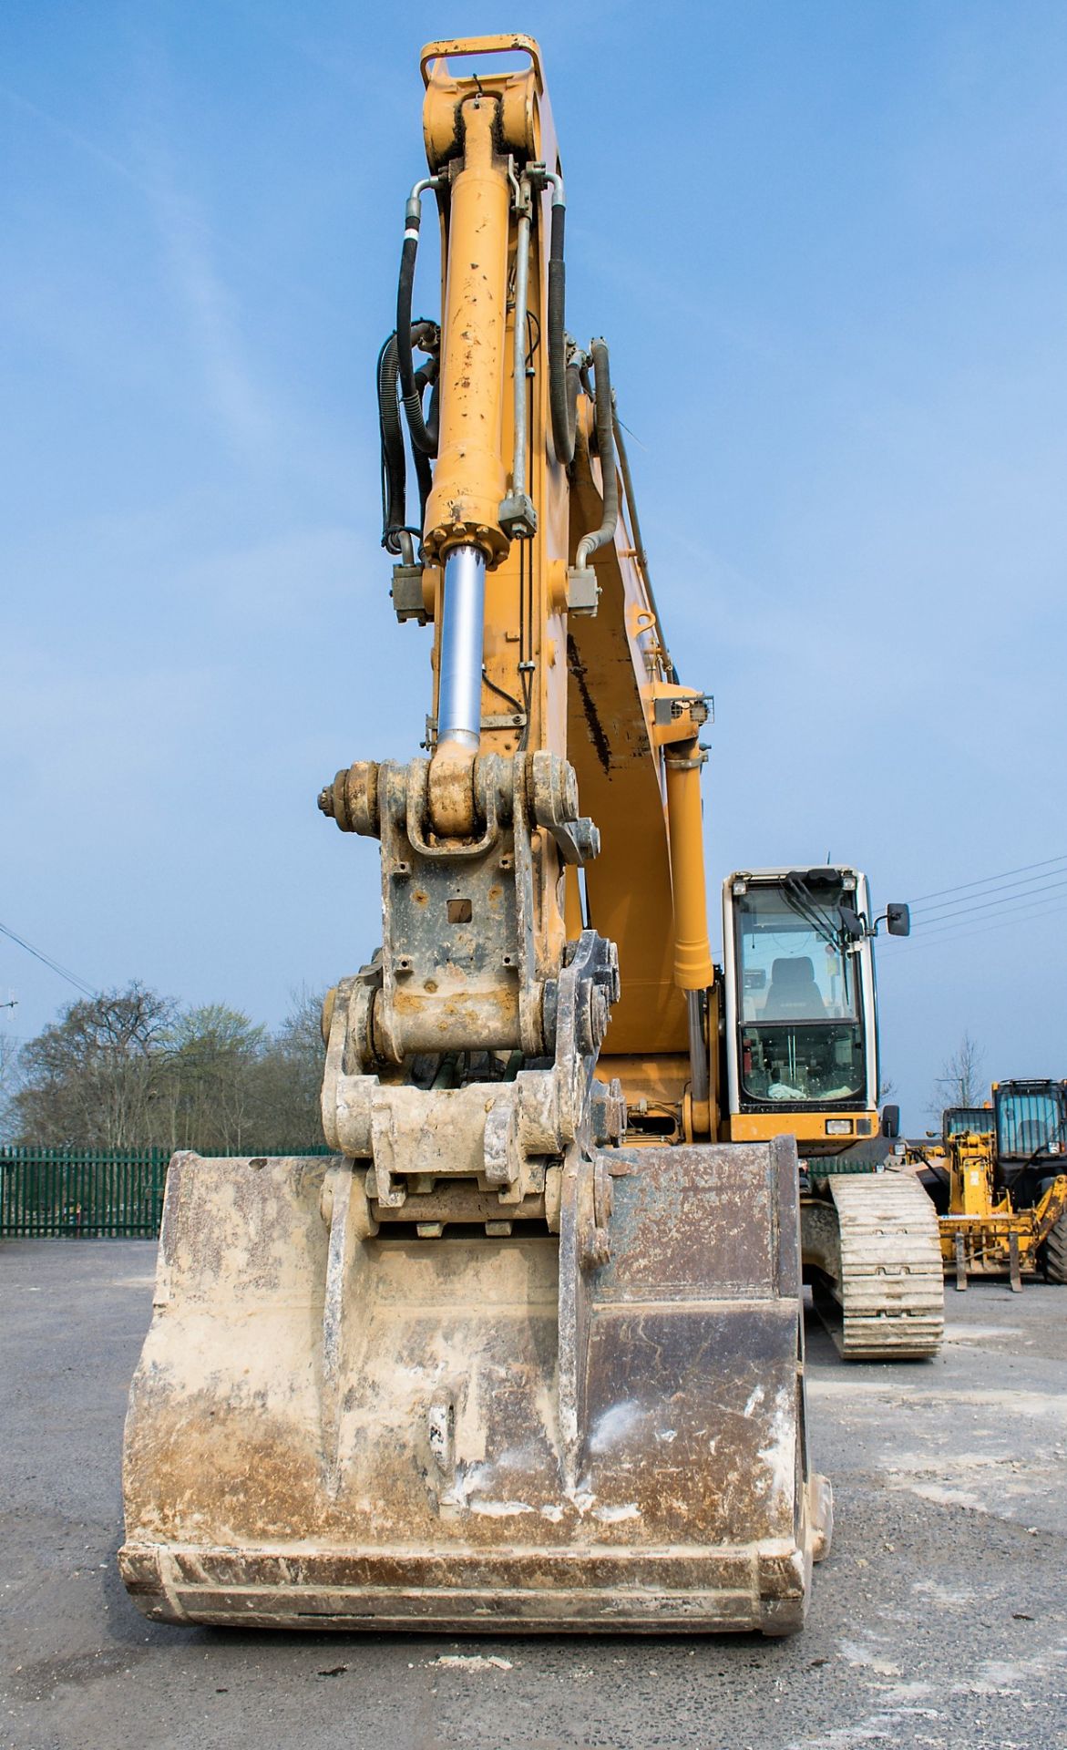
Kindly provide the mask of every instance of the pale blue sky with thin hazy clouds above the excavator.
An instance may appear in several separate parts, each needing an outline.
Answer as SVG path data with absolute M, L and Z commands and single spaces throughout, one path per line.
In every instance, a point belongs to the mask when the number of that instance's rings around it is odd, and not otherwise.
M 610 340 L 672 646 L 715 695 L 712 892 L 1067 859 L 1067 9 L 9 0 L 0 919 L 94 987 L 276 1022 L 378 942 L 373 847 L 315 808 L 429 702 L 373 364 L 418 49 L 502 26 L 542 42 L 568 320 Z M 1067 1074 L 1058 873 L 885 943 L 911 1129 L 964 1029 L 990 1074 Z M 30 1036 L 73 992 L 0 940 L 9 994 Z

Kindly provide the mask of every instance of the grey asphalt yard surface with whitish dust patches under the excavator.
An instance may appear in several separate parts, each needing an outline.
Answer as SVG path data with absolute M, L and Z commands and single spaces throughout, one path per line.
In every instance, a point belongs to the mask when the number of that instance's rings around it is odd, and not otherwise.
M 1062 1750 L 1067 1290 L 946 1293 L 936 1362 L 808 1326 L 836 1533 L 803 1634 L 299 1636 L 149 1624 L 115 1570 L 143 1241 L 0 1244 L 5 1750 Z

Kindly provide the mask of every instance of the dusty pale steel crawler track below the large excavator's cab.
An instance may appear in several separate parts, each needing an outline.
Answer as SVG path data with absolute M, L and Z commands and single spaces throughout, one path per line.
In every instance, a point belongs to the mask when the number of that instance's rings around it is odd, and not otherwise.
M 922 1360 L 945 1335 L 938 1216 L 897 1172 L 834 1174 L 838 1272 L 819 1272 L 815 1307 L 847 1362 Z

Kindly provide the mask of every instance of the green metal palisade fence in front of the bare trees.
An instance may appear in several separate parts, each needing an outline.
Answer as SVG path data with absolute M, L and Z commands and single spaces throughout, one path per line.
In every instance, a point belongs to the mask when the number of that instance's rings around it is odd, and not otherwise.
M 0 1239 L 154 1239 L 170 1157 L 170 1148 L 0 1148 Z

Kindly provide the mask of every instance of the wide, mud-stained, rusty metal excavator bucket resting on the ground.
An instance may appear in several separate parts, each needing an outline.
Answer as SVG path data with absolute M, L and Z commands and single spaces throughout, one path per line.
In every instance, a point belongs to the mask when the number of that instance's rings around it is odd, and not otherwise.
M 575 1148 L 558 1234 L 369 1227 L 343 1157 L 171 1162 L 126 1426 L 149 1617 L 801 1626 L 792 1141 Z

